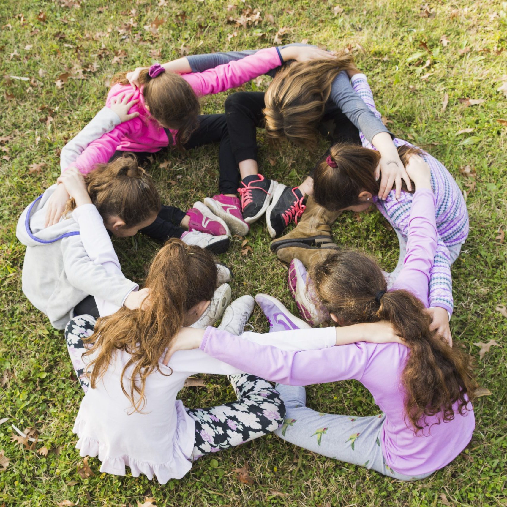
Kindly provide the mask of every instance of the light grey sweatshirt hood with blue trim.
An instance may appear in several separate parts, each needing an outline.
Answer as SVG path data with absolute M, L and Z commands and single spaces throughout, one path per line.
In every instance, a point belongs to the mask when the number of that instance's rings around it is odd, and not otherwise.
M 21 214 L 16 227 L 16 237 L 24 245 L 51 244 L 68 236 L 79 234 L 79 226 L 73 218 L 63 218 L 57 224 L 44 227 L 47 203 L 55 190 L 56 185 L 53 185 L 31 202 Z

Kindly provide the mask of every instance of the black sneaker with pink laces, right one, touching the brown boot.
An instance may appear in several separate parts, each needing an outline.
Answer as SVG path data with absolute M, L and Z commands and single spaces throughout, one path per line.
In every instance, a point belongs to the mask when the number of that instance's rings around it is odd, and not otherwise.
M 289 188 L 278 184 L 266 210 L 266 224 L 272 238 L 281 234 L 292 221 L 298 223 L 306 207 L 303 198 L 298 187 Z

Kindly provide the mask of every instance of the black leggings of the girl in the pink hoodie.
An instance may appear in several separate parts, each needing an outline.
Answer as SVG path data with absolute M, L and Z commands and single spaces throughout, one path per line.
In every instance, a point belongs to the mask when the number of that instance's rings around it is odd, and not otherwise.
M 167 132 L 167 131 L 166 131 Z M 170 132 L 167 132 L 171 139 Z M 220 162 L 220 179 L 219 191 L 221 194 L 236 194 L 239 187 L 238 166 L 231 150 L 231 142 L 229 139 L 229 131 L 225 115 L 200 115 L 199 126 L 192 132 L 190 139 L 184 144 L 186 150 L 199 148 L 204 144 L 212 142 L 220 142 L 219 162 Z M 157 153 L 136 152 L 134 155 L 139 164 L 148 162 L 148 157 L 157 156 L 160 153 L 167 152 L 168 148 L 164 148 Z M 122 157 L 125 152 L 116 151 L 109 160 L 110 162 L 118 157 Z M 166 241 L 168 238 L 179 238 L 185 232 L 179 227 L 180 222 L 185 216 L 185 211 L 174 206 L 162 206 L 155 222 L 144 229 L 142 234 L 146 234 L 158 241 Z

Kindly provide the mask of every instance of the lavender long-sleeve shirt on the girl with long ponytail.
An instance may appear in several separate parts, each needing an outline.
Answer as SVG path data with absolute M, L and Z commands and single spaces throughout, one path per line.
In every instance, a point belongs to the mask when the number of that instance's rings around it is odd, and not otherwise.
M 428 280 L 437 249 L 435 199 L 429 190 L 413 194 L 408 220 L 405 265 L 392 289 L 406 289 L 428 306 Z M 308 330 L 312 336 L 329 329 Z M 401 376 L 410 349 L 397 343 L 355 343 L 322 350 L 288 352 L 273 346 L 246 342 L 228 333 L 207 328 L 201 349 L 243 371 L 289 385 L 308 385 L 355 379 L 373 395 L 385 413 L 382 452 L 387 464 L 405 475 L 433 472 L 450 463 L 468 444 L 475 427 L 472 406 L 454 420 L 429 426 L 414 435 L 405 420 L 405 391 Z M 456 410 L 456 405 L 454 406 Z

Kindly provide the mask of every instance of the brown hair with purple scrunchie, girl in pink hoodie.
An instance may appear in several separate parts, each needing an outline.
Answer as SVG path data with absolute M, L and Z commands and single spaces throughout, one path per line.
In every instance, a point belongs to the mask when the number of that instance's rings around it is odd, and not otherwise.
M 166 71 L 151 78 L 148 71 L 148 68 L 144 68 L 139 74 L 139 83 L 144 85 L 144 102 L 155 120 L 166 128 L 177 130 L 173 140 L 177 148 L 183 149 L 183 144 L 198 126 L 197 116 L 201 106 L 197 95 L 178 74 Z M 116 74 L 111 84 L 116 83 L 128 85 L 126 73 Z

